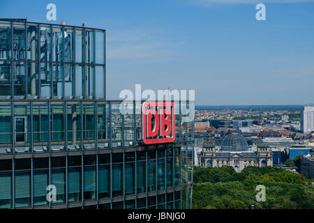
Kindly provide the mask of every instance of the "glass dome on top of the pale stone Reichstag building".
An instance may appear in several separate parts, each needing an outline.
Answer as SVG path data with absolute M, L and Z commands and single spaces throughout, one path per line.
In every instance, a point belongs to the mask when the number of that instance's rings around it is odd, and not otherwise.
M 221 143 L 221 149 L 223 151 L 247 151 L 248 142 L 241 134 L 228 134 Z

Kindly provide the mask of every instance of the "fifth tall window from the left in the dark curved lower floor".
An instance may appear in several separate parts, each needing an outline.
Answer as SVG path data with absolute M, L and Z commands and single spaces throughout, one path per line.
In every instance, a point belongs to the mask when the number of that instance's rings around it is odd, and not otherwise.
M 68 202 L 81 201 L 82 157 L 68 157 Z

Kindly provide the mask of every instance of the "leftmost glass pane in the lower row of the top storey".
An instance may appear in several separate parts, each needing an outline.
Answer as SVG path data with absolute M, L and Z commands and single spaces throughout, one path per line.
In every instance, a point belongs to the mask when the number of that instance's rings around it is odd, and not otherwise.
M 8 99 L 12 96 L 12 63 L 0 61 L 0 98 Z

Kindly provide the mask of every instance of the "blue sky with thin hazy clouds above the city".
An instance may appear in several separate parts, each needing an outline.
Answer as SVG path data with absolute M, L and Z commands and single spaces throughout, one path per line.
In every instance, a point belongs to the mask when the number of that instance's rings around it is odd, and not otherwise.
M 46 20 L 47 3 L 57 21 Z M 257 3 L 266 21 L 255 20 Z M 1 17 L 106 29 L 107 98 L 195 89 L 197 105 L 314 102 L 314 0 L 1 0 Z

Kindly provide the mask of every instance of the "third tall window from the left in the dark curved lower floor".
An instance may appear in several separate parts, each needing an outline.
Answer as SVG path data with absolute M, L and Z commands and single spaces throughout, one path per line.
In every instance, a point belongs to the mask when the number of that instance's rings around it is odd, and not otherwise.
M 33 158 L 33 206 L 45 205 L 48 203 L 46 190 L 48 184 L 48 158 Z

